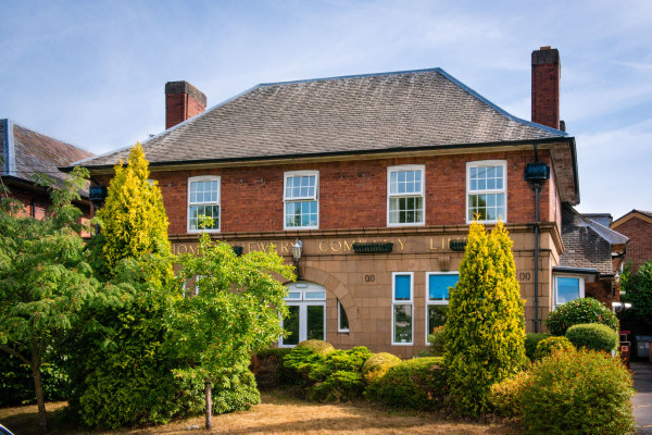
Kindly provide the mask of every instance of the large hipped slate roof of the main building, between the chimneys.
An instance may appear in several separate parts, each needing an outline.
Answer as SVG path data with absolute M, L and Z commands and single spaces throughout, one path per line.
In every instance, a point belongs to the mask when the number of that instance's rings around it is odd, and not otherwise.
M 567 135 L 519 120 L 434 69 L 261 84 L 142 145 L 155 165 L 555 138 Z M 127 154 L 76 164 L 108 167 Z

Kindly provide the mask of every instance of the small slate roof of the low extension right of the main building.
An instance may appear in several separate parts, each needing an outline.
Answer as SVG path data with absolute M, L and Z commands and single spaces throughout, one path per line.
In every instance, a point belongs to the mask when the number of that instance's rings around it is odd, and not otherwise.
M 625 249 L 629 238 L 585 217 L 573 207 L 562 209 L 562 240 L 564 252 L 561 268 L 594 269 L 603 275 L 613 274 L 612 251 Z

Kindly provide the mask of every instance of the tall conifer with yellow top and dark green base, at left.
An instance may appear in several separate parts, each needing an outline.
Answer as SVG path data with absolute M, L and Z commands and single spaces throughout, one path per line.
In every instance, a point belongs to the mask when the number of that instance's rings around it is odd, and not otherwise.
M 176 412 L 163 318 L 173 278 L 167 217 L 156 182 L 148 181 L 148 161 L 139 144 L 128 164 L 115 166 L 101 234 L 89 244 L 100 279 L 121 286 L 128 303 L 88 311 L 103 328 L 76 337 L 71 411 L 89 426 L 117 427 L 161 423 Z

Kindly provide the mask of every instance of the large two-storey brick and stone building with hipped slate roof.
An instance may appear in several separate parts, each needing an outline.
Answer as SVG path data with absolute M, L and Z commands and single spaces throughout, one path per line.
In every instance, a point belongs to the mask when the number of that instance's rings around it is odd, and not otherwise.
M 262 84 L 188 120 L 205 97 L 167 84 L 166 123 L 180 123 L 142 145 L 175 253 L 196 249 L 200 215 L 244 252 L 272 245 L 292 261 L 301 245 L 279 346 L 321 338 L 408 357 L 443 319 L 473 216 L 500 219 L 527 330 L 544 330 L 562 209 L 579 184 L 575 139 L 560 129 L 559 52 L 531 60 L 532 122 L 440 69 Z M 105 185 L 127 153 L 77 164 Z M 564 297 L 582 296 L 572 287 Z

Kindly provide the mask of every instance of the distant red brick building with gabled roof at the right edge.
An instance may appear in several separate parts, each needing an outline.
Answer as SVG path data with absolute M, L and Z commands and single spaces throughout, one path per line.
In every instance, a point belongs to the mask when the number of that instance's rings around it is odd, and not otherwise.
M 652 260 L 652 211 L 631 210 L 614 221 L 611 227 L 629 237 L 627 252 L 616 268 L 631 261 L 632 270 L 637 271 L 645 261 Z

